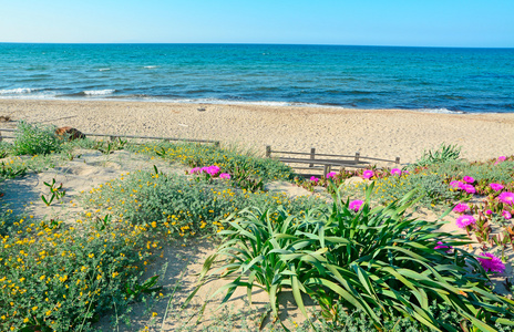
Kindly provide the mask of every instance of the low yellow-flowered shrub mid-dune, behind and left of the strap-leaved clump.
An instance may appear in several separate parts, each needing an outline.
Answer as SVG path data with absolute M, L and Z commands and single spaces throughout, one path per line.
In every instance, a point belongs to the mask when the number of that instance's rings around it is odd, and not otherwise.
M 193 176 L 150 172 L 123 175 L 84 196 L 91 208 L 103 208 L 133 225 L 181 237 L 216 234 L 226 226 L 222 220 L 248 206 L 284 206 L 297 214 L 319 201 L 237 190 L 222 179 L 195 180 Z

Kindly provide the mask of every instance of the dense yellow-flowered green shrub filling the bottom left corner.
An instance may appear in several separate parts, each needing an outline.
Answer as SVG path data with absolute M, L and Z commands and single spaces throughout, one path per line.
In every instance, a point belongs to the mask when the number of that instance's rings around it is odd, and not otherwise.
M 145 239 L 124 225 L 19 219 L 0 237 L 0 330 L 86 331 L 107 311 L 122 314 L 141 290 Z

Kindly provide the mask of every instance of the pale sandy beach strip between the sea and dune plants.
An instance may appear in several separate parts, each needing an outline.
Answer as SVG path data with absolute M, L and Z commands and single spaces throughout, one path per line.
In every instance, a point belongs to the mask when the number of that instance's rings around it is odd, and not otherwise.
M 434 114 L 261 105 L 119 101 L 0 100 L 0 115 L 72 126 L 84 133 L 218 139 L 273 149 L 354 154 L 414 162 L 442 143 L 462 146 L 474 160 L 514 154 L 514 113 Z

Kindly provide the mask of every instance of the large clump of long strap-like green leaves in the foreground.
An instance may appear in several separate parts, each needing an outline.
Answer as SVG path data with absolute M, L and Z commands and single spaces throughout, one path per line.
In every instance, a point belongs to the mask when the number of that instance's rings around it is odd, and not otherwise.
M 464 236 L 439 231 L 440 222 L 409 218 L 405 210 L 417 203 L 414 193 L 372 209 L 372 190 L 371 185 L 358 212 L 348 200 L 335 197 L 331 212 L 317 210 L 298 219 L 274 210 L 239 214 L 220 232 L 226 240 L 207 258 L 201 280 L 223 257 L 229 260 L 216 270 L 232 277 L 219 289 L 227 291 L 225 300 L 238 287 L 261 288 L 269 293 L 275 315 L 277 294 L 291 287 L 304 314 L 300 292 L 316 299 L 327 318 L 340 301 L 366 312 L 378 329 L 384 328 L 384 320 L 405 315 L 428 329 L 455 331 L 431 313 L 429 303 L 434 301 L 454 310 L 462 324 L 480 330 L 510 323 L 514 302 L 492 292 L 482 266 L 460 248 L 470 243 Z M 438 240 L 453 246 L 453 252 L 434 249 Z

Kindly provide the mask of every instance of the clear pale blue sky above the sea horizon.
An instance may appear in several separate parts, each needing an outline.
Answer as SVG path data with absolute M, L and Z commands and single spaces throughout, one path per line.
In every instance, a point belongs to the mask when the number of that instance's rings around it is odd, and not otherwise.
M 3 0 L 0 42 L 514 48 L 514 0 Z

